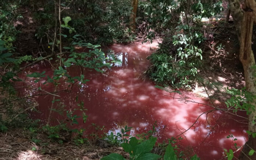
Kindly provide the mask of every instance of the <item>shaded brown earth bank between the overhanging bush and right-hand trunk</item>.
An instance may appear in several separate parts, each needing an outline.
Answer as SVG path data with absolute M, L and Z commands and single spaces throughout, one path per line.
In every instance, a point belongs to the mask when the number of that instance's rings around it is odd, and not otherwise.
M 203 46 L 205 61 L 199 69 L 199 77 L 203 81 L 196 85 L 194 92 L 202 97 L 224 102 L 225 88 L 241 89 L 245 86 L 243 67 L 239 61 L 237 33 L 234 25 L 226 23 L 225 19 L 209 22 L 208 25 L 207 31 L 214 38 Z

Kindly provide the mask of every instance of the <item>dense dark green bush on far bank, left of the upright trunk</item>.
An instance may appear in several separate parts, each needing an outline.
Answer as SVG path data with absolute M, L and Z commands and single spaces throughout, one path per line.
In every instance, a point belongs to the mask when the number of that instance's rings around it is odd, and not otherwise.
M 86 39 L 100 44 L 126 43 L 134 39 L 129 29 L 129 0 L 84 1 L 78 6 L 86 12 L 72 18 L 72 26 Z

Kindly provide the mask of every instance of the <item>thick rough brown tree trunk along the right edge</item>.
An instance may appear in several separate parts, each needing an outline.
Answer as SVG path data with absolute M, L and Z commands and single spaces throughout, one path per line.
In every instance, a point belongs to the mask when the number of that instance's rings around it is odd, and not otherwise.
M 239 59 L 242 62 L 246 91 L 250 92 L 253 95 L 256 95 L 256 77 L 255 77 L 255 59 L 252 51 L 252 30 L 254 17 L 252 17 L 252 12 L 255 12 L 256 4 L 255 0 L 245 0 L 245 8 L 250 8 L 243 13 L 242 25 L 241 25 L 241 36 L 240 36 L 240 53 Z M 256 106 L 256 100 L 249 102 L 251 105 Z M 253 124 L 253 121 L 256 120 L 256 110 L 251 109 L 251 113 L 248 116 L 248 130 L 251 132 L 256 132 L 256 125 Z M 245 146 L 242 150 L 242 154 L 239 159 L 241 160 L 256 160 L 256 153 L 252 156 L 249 156 L 249 151 L 253 149 L 256 151 L 256 138 L 253 138 L 252 135 L 249 135 L 249 141 L 245 143 Z

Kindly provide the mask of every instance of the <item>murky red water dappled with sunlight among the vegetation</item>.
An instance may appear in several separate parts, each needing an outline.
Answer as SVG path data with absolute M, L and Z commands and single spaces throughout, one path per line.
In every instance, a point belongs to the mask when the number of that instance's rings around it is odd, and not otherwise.
M 87 128 L 87 133 L 92 133 L 95 132 L 95 129 L 91 127 L 91 124 L 94 123 L 104 126 L 104 131 L 110 133 L 111 131 L 120 132 L 120 128 L 127 125 L 133 127 L 131 134 L 136 135 L 151 130 L 156 122 L 154 136 L 161 142 L 167 138 L 177 137 L 195 123 L 181 135 L 183 139 L 178 144 L 186 154 L 196 153 L 202 160 L 221 159 L 224 156 L 224 148 L 237 150 L 234 148 L 234 143 L 242 146 L 247 140 L 245 133 L 247 128 L 246 124 L 238 123 L 238 121 L 244 119 L 223 111 L 213 111 L 208 115 L 202 114 L 213 109 L 210 106 L 199 104 L 208 104 L 209 102 L 205 99 L 196 97 L 193 92 L 189 91 L 181 91 L 182 95 L 168 93 L 156 88 L 155 84 L 146 78 L 143 74 L 149 66 L 146 57 L 153 52 L 151 49 L 156 46 L 157 41 L 154 41 L 153 44 L 136 42 L 110 46 L 122 61 L 121 65 L 113 64 L 114 67 L 103 74 L 83 69 L 83 73 L 90 80 L 88 83 L 81 84 L 81 87 L 74 85 L 68 93 L 56 93 L 60 96 L 58 98 L 61 99 L 60 102 L 66 105 L 67 109 L 74 111 L 75 108 L 78 108 L 76 97 L 78 97 L 78 101 L 83 101 L 85 108 L 88 109 L 86 111 L 87 122 L 84 124 L 82 118 L 79 118 L 79 124 L 72 127 Z M 42 71 L 46 71 L 47 75 L 53 74 L 50 66 L 42 63 L 26 70 L 22 77 L 29 72 Z M 81 68 L 71 67 L 68 72 L 72 75 L 79 75 Z M 38 84 L 33 84 L 33 80 L 28 77 L 26 84 L 38 87 Z M 65 90 L 68 85 L 62 83 L 58 90 Z M 53 91 L 54 87 L 44 85 L 42 88 L 45 91 Z M 21 93 L 22 96 L 46 94 L 31 88 L 23 88 Z M 168 97 L 170 95 L 175 98 Z M 40 113 L 32 112 L 31 116 L 46 121 L 53 96 L 41 95 L 33 98 L 39 103 L 38 111 Z M 183 98 L 198 103 L 184 101 Z M 56 107 L 54 106 L 54 108 Z M 74 111 L 74 113 L 81 116 L 79 111 Z M 198 118 L 200 114 L 202 116 Z M 240 114 L 245 116 L 243 113 Z M 197 118 L 198 120 L 196 120 Z M 61 119 L 63 116 L 54 112 L 51 124 L 58 124 Z M 246 121 L 243 122 L 246 123 Z M 233 142 L 232 139 L 228 139 L 227 136 L 231 134 L 238 140 Z M 235 153 L 235 156 L 238 154 L 239 151 Z

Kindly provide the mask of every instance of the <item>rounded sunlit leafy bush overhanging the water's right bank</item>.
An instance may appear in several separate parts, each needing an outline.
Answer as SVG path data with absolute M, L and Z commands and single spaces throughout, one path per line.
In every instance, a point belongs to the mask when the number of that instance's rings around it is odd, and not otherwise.
M 157 84 L 171 85 L 173 87 L 193 88 L 193 80 L 197 74 L 196 66 L 199 61 L 196 57 L 185 58 L 185 54 L 176 52 L 175 55 L 169 53 L 171 42 L 166 39 L 159 45 L 159 50 L 150 55 L 148 58 L 152 65 L 147 70 L 150 78 Z M 180 49 L 178 48 L 180 51 Z M 177 60 L 177 57 L 182 59 Z

